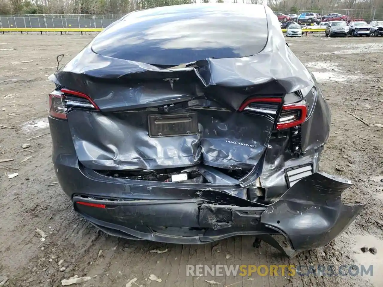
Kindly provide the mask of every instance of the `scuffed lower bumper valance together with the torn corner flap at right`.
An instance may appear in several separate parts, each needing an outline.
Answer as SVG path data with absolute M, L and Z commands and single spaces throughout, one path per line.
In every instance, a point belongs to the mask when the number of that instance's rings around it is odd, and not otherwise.
M 342 191 L 351 185 L 347 180 L 314 173 L 271 205 L 249 202 L 243 207 L 208 202 L 204 192 L 200 198 L 163 201 L 77 195 L 73 202 L 77 212 L 111 235 L 183 244 L 255 235 L 293 256 L 326 245 L 361 212 L 365 204 L 345 205 L 340 199 Z M 105 208 L 76 204 L 78 201 L 103 204 Z M 284 235 L 290 248 L 278 245 L 271 234 Z

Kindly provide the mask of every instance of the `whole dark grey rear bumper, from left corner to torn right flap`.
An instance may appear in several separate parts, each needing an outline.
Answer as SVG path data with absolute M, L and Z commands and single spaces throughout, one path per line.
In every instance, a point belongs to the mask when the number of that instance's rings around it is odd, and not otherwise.
M 52 160 L 76 212 L 111 235 L 167 243 L 202 244 L 230 236 L 255 235 L 290 256 L 326 245 L 355 219 L 364 204 L 345 205 L 351 183 L 314 172 L 270 205 L 190 184 L 110 178 L 77 160 L 67 122 L 49 119 Z M 314 170 L 315 171 L 315 170 Z M 105 205 L 94 207 L 78 202 Z M 98 205 L 100 206 L 100 205 Z M 283 248 L 270 235 L 282 234 Z

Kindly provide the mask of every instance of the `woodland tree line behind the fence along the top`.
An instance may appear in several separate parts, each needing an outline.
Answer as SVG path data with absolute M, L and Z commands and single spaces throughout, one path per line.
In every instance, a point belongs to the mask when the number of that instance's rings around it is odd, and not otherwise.
M 195 2 L 263 4 L 263 0 L 0 0 L 0 15 L 107 14 Z M 267 0 L 274 11 L 383 8 L 383 0 Z

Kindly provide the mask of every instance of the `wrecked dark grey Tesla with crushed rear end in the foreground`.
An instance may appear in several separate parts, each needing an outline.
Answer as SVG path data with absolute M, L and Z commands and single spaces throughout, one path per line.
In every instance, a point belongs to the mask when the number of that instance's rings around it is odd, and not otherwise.
M 266 6 L 134 11 L 49 79 L 57 178 L 108 234 L 252 235 L 294 256 L 364 207 L 342 203 L 350 181 L 319 172 L 330 110 Z

